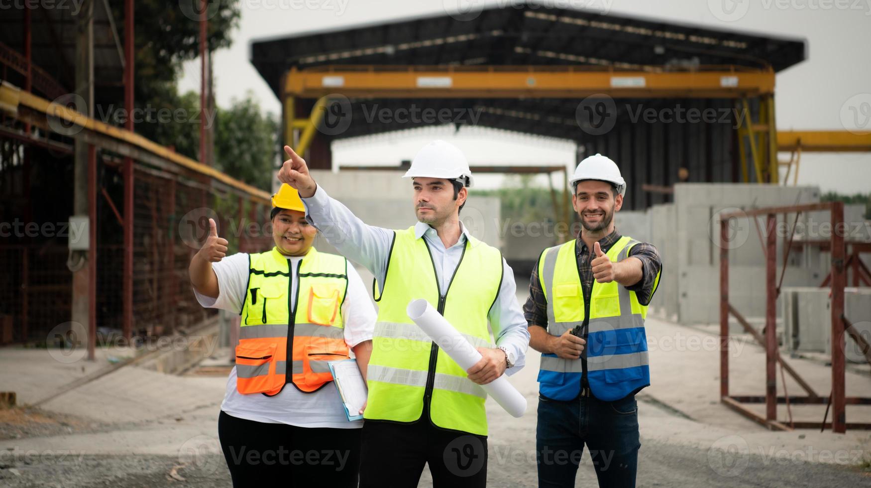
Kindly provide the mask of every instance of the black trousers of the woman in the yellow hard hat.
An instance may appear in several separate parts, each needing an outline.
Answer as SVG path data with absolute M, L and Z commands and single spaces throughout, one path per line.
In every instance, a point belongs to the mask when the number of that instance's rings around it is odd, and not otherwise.
M 221 411 L 218 437 L 234 488 L 357 485 L 360 429 L 264 424 Z

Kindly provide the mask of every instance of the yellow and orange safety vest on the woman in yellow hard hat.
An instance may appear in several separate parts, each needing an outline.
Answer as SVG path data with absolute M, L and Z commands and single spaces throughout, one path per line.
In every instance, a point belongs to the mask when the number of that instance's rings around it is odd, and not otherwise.
M 249 259 L 236 346 L 237 390 L 273 396 L 287 383 L 304 393 L 321 389 L 333 381 L 327 362 L 348 359 L 341 316 L 348 261 L 314 247 L 295 271 L 290 259 L 275 247 L 250 254 Z M 294 280 L 295 309 L 291 310 Z

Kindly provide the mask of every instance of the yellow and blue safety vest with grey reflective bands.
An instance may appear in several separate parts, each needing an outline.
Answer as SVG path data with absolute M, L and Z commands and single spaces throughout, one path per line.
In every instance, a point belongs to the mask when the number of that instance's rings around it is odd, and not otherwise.
M 606 254 L 623 261 L 638 241 L 621 237 Z M 547 299 L 548 332 L 563 335 L 584 323 L 584 287 L 577 269 L 577 240 L 544 250 L 538 260 L 538 278 Z M 657 274 L 657 283 L 659 275 Z M 656 284 L 654 284 L 654 289 Z M 599 400 L 614 401 L 649 385 L 645 318 L 647 307 L 635 292 L 617 281 L 594 281 L 590 295 L 587 343 L 587 381 Z M 580 392 L 581 359 L 560 359 L 543 354 L 538 372 L 542 395 L 571 400 Z

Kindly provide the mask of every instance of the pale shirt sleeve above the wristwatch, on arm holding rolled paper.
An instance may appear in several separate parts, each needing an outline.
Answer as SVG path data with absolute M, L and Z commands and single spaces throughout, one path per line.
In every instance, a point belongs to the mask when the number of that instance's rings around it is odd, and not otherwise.
M 514 271 L 504 258 L 502 266 L 502 285 L 487 318 L 490 319 L 496 345 L 514 353 L 514 365 L 505 369 L 505 374 L 511 376 L 523 369 L 526 364 L 530 330 L 526 327 L 526 320 L 523 318 L 520 304 L 517 303 L 517 282 L 514 281 Z

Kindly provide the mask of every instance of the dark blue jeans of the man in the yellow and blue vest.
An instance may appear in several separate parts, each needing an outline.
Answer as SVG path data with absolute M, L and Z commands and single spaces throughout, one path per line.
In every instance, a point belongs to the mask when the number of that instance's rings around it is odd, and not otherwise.
M 584 444 L 600 487 L 635 486 L 638 470 L 638 403 L 579 396 L 562 402 L 538 396 L 538 486 L 574 486 Z

